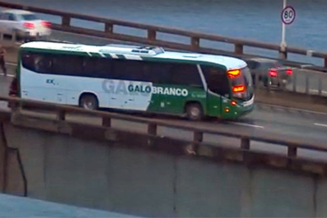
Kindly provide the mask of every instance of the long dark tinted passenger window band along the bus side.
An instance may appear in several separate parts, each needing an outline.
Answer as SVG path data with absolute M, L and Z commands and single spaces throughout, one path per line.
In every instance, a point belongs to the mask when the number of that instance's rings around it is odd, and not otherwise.
M 23 52 L 22 64 L 38 73 L 202 86 L 198 69 L 191 64 L 34 52 Z

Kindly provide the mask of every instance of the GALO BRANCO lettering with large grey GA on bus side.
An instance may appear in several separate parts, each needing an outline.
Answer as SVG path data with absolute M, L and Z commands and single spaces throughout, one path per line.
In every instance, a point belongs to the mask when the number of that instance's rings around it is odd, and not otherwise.
M 187 89 L 152 86 L 151 82 L 124 81 L 115 79 L 105 79 L 102 83 L 102 89 L 110 94 L 123 95 L 143 95 L 151 94 L 170 95 L 170 96 L 188 96 Z

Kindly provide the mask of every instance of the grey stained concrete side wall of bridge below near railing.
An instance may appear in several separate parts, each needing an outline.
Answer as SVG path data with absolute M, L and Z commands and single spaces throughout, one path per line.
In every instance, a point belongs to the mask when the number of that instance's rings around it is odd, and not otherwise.
M 10 123 L 4 129 L 8 147 L 20 152 L 32 198 L 145 217 L 327 216 L 326 178 Z

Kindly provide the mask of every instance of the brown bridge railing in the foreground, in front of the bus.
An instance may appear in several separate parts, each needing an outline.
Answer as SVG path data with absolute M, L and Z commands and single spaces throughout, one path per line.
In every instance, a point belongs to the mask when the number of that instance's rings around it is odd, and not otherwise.
M 0 101 L 7 101 L 12 108 L 12 114 L 17 111 L 20 111 L 21 108 L 37 108 L 41 111 L 52 112 L 57 115 L 57 120 L 60 122 L 66 122 L 67 115 L 71 114 L 80 114 L 84 116 L 91 116 L 91 117 L 98 117 L 102 119 L 102 127 L 103 128 L 113 128 L 111 125 L 112 119 L 121 119 L 124 121 L 132 121 L 137 123 L 143 123 L 147 126 L 147 137 L 148 143 L 151 143 L 153 139 L 164 139 L 164 137 L 158 134 L 158 127 L 168 127 L 173 128 L 176 130 L 184 130 L 192 133 L 193 139 L 187 140 L 191 145 L 193 145 L 192 153 L 194 155 L 202 156 L 199 151 L 199 146 L 211 146 L 211 147 L 220 147 L 219 142 L 214 144 L 208 144 L 203 141 L 204 134 L 210 134 L 215 136 L 223 136 L 229 137 L 234 139 L 240 139 L 240 144 L 236 149 L 237 152 L 247 153 L 247 152 L 254 152 L 251 150 L 251 142 L 262 142 L 262 143 L 269 143 L 270 146 L 285 146 L 287 148 L 287 153 L 284 158 L 288 161 L 309 161 L 313 163 L 320 164 L 323 168 L 319 171 L 319 173 L 327 174 L 327 161 L 314 161 L 314 160 L 307 160 L 303 157 L 298 155 L 299 149 L 306 149 L 309 151 L 319 151 L 324 152 L 327 154 L 327 147 L 320 144 L 315 143 L 304 143 L 300 139 L 285 139 L 285 137 L 279 137 L 276 134 L 265 134 L 261 136 L 254 136 L 249 133 L 239 133 L 239 132 L 229 132 L 226 130 L 219 130 L 219 129 L 211 129 L 206 127 L 197 127 L 194 125 L 194 122 L 178 122 L 172 123 L 170 121 L 164 119 L 151 119 L 151 118 L 144 118 L 144 117 L 136 117 L 126 114 L 120 113 L 113 113 L 113 112 L 105 112 L 105 111 L 91 111 L 85 110 L 79 107 L 73 106 L 63 106 L 59 104 L 52 104 L 52 103 L 45 103 L 41 101 L 34 101 L 34 100 L 26 100 L 26 99 L 19 99 L 19 98 L 11 98 L 11 97 L 0 97 Z M 127 131 L 127 130 L 126 130 Z M 284 139 L 283 139 L 284 138 Z M 175 138 L 175 140 L 180 140 Z M 230 148 L 228 148 L 230 149 Z M 219 154 L 217 154 L 219 155 Z M 268 156 L 276 156 L 273 153 L 266 153 Z M 204 155 L 205 156 L 205 155 Z M 258 156 L 260 157 L 260 156 Z M 269 159 L 269 157 L 268 157 Z

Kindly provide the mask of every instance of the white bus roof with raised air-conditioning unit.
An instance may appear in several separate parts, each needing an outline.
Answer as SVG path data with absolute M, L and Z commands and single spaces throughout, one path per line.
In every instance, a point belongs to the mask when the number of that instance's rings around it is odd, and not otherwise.
M 49 42 L 49 41 L 32 41 L 20 46 L 23 49 L 37 50 L 54 50 L 57 52 L 79 52 L 87 53 L 89 56 L 119 58 L 119 59 L 172 59 L 185 61 L 189 63 L 213 63 L 224 65 L 227 70 L 238 69 L 246 66 L 244 60 L 200 53 L 188 53 L 178 51 L 164 51 L 161 47 L 136 46 L 136 45 L 119 45 L 108 44 L 104 46 Z

